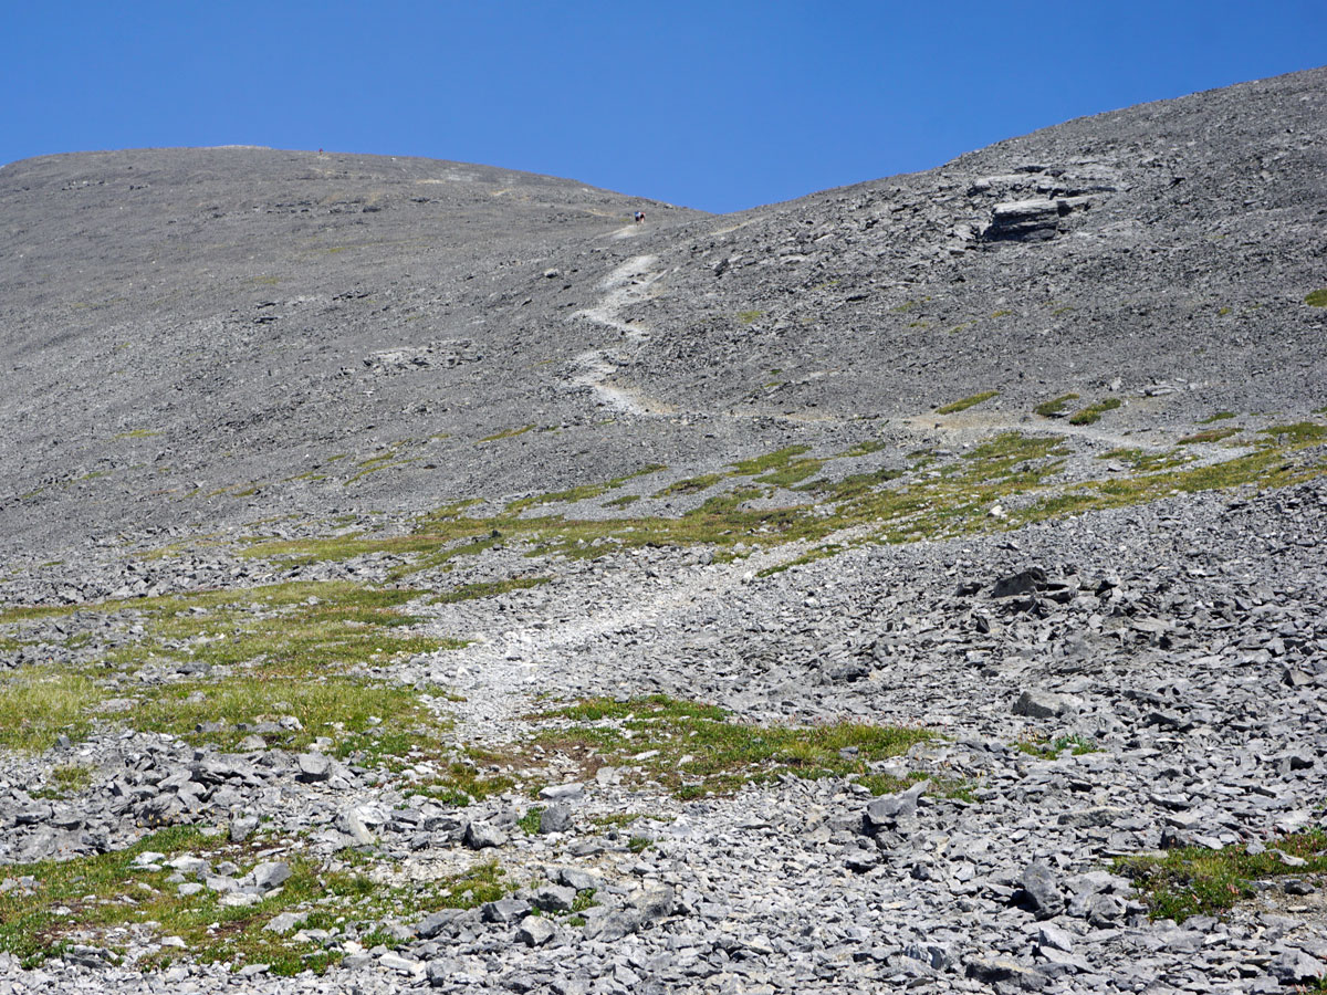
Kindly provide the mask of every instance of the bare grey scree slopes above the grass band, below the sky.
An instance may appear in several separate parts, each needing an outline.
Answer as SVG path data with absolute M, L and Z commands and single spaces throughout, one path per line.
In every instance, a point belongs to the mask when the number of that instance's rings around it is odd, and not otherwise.
M 1066 393 L 1131 398 L 1129 429 L 1303 414 L 1327 382 L 1327 312 L 1304 304 L 1324 269 L 1322 84 L 1104 114 L 726 218 L 380 157 L 11 165 L 7 531 L 114 532 L 126 504 L 200 523 L 234 509 L 196 492 L 243 484 L 245 511 L 322 509 L 344 490 L 280 482 L 442 434 L 356 492 L 421 509 L 559 490 L 860 440 L 864 417 L 990 390 L 982 411 L 1011 419 Z M 475 458 L 527 423 L 559 431 Z M 70 490 L 89 474 L 106 479 Z

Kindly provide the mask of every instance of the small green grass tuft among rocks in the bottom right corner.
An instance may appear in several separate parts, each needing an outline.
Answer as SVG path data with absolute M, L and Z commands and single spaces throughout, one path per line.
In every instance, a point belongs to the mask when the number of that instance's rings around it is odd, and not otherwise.
M 1292 868 L 1277 850 L 1306 864 Z M 1254 881 L 1327 872 L 1327 833 L 1311 829 L 1282 836 L 1258 854 L 1242 846 L 1220 850 L 1185 846 L 1165 857 L 1119 857 L 1115 870 L 1133 880 L 1153 919 L 1184 922 L 1190 915 L 1222 913 L 1251 898 Z

